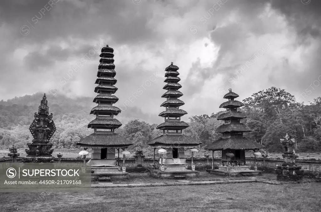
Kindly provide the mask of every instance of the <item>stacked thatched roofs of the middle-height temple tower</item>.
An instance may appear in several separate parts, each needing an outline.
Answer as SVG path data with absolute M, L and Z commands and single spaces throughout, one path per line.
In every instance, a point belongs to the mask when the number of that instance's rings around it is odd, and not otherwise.
M 159 116 L 164 117 L 165 122 L 156 127 L 156 129 L 163 130 L 163 135 L 148 143 L 154 147 L 168 147 L 170 145 L 177 145 L 176 147 L 195 147 L 201 144 L 198 140 L 182 134 L 182 130 L 189 127 L 189 125 L 181 121 L 181 117 L 187 114 L 187 112 L 179 109 L 185 103 L 178 99 L 183 96 L 183 93 L 178 90 L 182 87 L 178 83 L 180 81 L 178 69 L 177 66 L 173 65 L 173 62 L 165 68 L 165 77 L 167 78 L 164 82 L 167 84 L 163 89 L 167 91 L 161 97 L 166 98 L 166 101 L 160 106 L 166 109 L 159 114 Z

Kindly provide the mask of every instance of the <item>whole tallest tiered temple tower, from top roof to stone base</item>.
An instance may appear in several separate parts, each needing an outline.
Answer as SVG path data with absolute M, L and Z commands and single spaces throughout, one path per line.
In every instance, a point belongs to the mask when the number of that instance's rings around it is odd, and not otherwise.
M 96 119 L 88 124 L 88 128 L 94 129 L 94 133 L 80 139 L 76 145 L 85 150 L 92 149 L 91 160 L 88 163 L 91 165 L 93 176 L 128 178 L 130 174 L 125 171 L 125 164 L 123 163 L 122 167 L 119 166 L 119 153 L 133 143 L 115 133 L 115 129 L 122 124 L 114 118 L 114 115 L 121 113 L 121 110 L 113 106 L 118 101 L 114 95 L 118 88 L 114 86 L 117 80 L 114 78 L 116 71 L 113 52 L 114 49 L 108 45 L 101 49 L 98 78 L 95 82 L 98 85 L 94 90 L 98 95 L 93 100 L 98 106 L 92 108 L 90 112 L 96 115 Z M 116 149 L 118 160 L 115 159 Z

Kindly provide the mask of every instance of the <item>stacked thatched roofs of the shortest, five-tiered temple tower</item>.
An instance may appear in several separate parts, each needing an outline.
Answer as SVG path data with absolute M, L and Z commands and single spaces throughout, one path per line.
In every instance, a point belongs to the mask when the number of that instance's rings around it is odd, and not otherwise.
M 243 106 L 243 103 L 234 100 L 239 97 L 239 95 L 232 92 L 232 89 L 229 89 L 229 91 L 230 92 L 223 97 L 228 99 L 228 101 L 220 105 L 220 108 L 225 108 L 227 112 L 217 117 L 217 120 L 223 120 L 225 122 L 216 129 L 216 132 L 221 133 L 223 137 L 212 144 L 206 145 L 204 148 L 214 151 L 225 149 L 254 150 L 264 148 L 263 145 L 256 143 L 247 137 L 243 137 L 244 132 L 251 132 L 252 130 L 245 124 L 240 123 L 240 119 L 247 118 L 245 113 L 237 111 L 237 108 Z

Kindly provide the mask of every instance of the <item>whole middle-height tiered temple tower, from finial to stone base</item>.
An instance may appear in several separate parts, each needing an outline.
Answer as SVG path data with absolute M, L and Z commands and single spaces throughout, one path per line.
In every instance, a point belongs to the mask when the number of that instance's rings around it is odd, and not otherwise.
M 164 118 L 164 123 L 157 126 L 156 129 L 162 130 L 163 135 L 148 142 L 148 145 L 154 147 L 154 166 L 150 169 L 151 175 L 154 177 L 184 177 L 198 176 L 199 172 L 195 171 L 195 165 L 192 169 L 187 169 L 184 148 L 195 148 L 202 142 L 183 135 L 183 130 L 189 127 L 186 122 L 181 121 L 181 117 L 187 112 L 179 109 L 179 106 L 185 103 L 178 99 L 183 96 L 180 92 L 182 86 L 178 83 L 178 67 L 171 65 L 165 68 L 165 81 L 167 84 L 163 87 L 166 92 L 161 96 L 166 98 L 160 106 L 165 107 L 165 111 L 159 116 Z M 155 163 L 155 150 L 160 148 L 162 153 L 160 161 Z

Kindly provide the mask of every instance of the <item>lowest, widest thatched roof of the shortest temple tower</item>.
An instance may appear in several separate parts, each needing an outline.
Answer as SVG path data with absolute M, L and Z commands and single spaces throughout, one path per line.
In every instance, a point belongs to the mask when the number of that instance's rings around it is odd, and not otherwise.
M 224 149 L 261 149 L 264 145 L 256 143 L 246 137 L 230 137 L 230 138 L 220 138 L 214 141 L 212 144 L 208 144 L 204 149 L 208 150 L 224 150 Z

